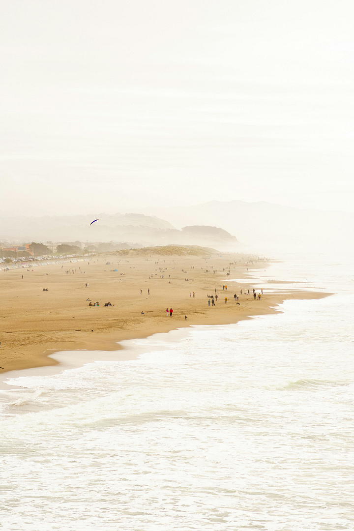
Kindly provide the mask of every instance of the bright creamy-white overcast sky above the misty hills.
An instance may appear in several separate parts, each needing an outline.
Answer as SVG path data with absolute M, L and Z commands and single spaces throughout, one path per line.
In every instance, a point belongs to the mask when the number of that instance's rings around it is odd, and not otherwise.
M 354 211 L 353 2 L 0 6 L 2 213 Z

